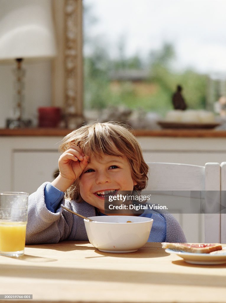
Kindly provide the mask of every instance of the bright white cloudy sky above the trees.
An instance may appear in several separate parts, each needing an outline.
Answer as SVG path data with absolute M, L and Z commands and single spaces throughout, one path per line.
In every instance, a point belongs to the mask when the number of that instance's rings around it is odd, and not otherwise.
M 226 0 L 83 0 L 97 22 L 86 28 L 118 52 L 147 56 L 164 42 L 174 45 L 175 68 L 226 75 Z

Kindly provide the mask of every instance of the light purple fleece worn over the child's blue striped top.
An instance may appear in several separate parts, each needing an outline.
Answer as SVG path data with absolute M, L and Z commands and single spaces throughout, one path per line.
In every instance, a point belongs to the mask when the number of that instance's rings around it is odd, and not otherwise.
M 51 212 L 45 205 L 43 183 L 29 196 L 26 244 L 58 243 L 63 240 L 88 241 L 82 218 L 59 208 Z M 62 204 L 86 217 L 95 216 L 95 208 L 83 201 L 62 199 Z M 181 226 L 171 214 L 162 214 L 166 221 L 166 242 L 186 242 Z

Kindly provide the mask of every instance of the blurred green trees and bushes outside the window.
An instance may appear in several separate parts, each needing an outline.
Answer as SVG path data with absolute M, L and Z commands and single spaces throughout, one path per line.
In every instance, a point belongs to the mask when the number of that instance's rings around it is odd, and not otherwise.
M 152 52 L 149 61 L 143 62 L 139 55 L 126 58 L 123 46 L 120 58 L 110 59 L 107 49 L 94 43 L 92 54 L 84 58 L 84 108 L 103 109 L 108 105 L 124 105 L 131 109 L 143 108 L 164 116 L 173 108 L 172 94 L 178 84 L 183 88 L 182 94 L 188 108 L 205 108 L 207 77 L 192 70 L 173 72 L 170 68 L 173 58 L 174 50 L 169 44 L 164 44 L 162 49 Z M 129 80 L 118 81 L 116 89 L 112 88 L 112 71 L 139 71 L 142 66 L 149 68 L 149 77 L 140 85 L 154 85 L 152 92 L 137 92 L 136 87 L 139 84 Z

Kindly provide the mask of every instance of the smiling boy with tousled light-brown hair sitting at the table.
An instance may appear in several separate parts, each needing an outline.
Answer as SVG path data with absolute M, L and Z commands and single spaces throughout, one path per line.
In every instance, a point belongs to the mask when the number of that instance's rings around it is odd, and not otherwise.
M 60 174 L 29 196 L 27 244 L 88 240 L 82 218 L 105 215 L 104 195 L 116 191 L 141 191 L 147 185 L 148 165 L 134 135 L 113 123 L 84 125 L 61 142 Z M 64 193 L 70 199 L 64 199 Z M 179 223 L 170 214 L 155 211 L 141 216 L 153 218 L 148 241 L 186 242 Z

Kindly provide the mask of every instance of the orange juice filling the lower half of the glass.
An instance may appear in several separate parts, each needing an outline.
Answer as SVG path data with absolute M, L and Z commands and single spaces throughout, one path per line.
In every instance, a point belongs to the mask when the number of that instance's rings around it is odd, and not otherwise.
M 23 251 L 27 222 L 0 221 L 0 253 Z

